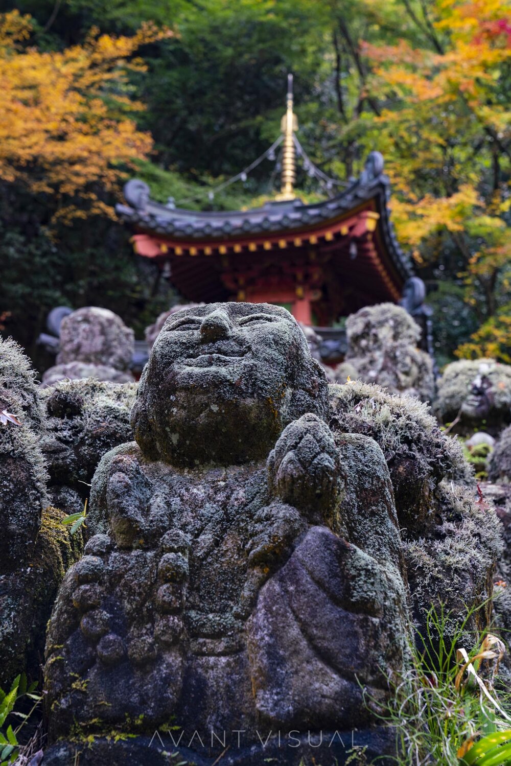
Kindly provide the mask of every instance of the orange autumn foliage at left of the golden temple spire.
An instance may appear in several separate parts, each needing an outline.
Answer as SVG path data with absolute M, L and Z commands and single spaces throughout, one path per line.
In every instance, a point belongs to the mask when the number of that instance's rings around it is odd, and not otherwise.
M 100 190 L 118 187 L 120 171 L 152 147 L 130 116 L 142 104 L 127 73 L 143 67 L 140 45 L 169 34 L 150 24 L 132 37 L 93 29 L 82 45 L 40 52 L 28 16 L 0 15 L 0 178 L 54 195 L 54 222 L 112 216 Z

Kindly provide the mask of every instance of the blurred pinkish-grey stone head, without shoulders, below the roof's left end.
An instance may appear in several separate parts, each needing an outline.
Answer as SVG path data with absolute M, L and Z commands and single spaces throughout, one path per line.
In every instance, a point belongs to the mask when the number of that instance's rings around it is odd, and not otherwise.
M 126 370 L 133 356 L 133 330 L 109 309 L 87 306 L 64 317 L 57 365 L 89 362 Z

